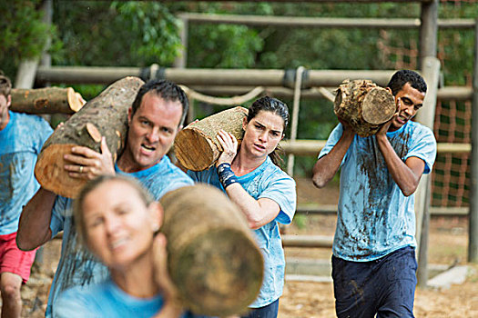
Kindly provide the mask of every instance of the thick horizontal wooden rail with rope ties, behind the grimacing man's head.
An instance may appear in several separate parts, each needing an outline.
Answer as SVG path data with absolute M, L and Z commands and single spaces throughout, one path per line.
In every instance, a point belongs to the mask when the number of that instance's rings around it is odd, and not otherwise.
M 37 84 L 110 84 L 126 76 L 165 78 L 185 85 L 243 85 L 293 87 L 296 70 L 52 66 L 38 67 Z M 370 79 L 388 84 L 394 70 L 306 70 L 302 87 L 339 86 L 344 79 Z

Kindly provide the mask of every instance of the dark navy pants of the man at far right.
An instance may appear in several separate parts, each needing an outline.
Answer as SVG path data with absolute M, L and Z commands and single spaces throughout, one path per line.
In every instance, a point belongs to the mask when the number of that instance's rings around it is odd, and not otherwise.
M 413 317 L 416 269 L 415 250 L 410 246 L 371 262 L 332 256 L 337 316 Z

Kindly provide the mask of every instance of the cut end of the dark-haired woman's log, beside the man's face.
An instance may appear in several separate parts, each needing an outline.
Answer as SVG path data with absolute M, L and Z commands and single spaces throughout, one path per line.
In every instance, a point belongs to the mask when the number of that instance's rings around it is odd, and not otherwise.
M 180 164 L 191 171 L 208 169 L 218 154 L 216 147 L 196 129 L 183 129 L 174 141 L 174 151 Z

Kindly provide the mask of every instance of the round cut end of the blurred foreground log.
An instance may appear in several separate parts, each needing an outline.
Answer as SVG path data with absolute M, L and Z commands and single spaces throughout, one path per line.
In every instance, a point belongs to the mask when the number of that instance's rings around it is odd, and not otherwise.
M 188 294 L 186 306 L 194 313 L 210 316 L 246 311 L 262 283 L 260 254 L 250 253 L 254 248 L 248 237 L 234 229 L 198 236 L 177 255 L 177 267 L 170 271 L 183 289 L 181 293 Z

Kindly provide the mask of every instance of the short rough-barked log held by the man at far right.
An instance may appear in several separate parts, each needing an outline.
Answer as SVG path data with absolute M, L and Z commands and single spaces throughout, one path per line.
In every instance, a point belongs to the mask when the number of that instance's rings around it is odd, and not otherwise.
M 345 80 L 337 90 L 333 110 L 357 134 L 368 137 L 392 119 L 396 105 L 392 93 L 369 80 Z

